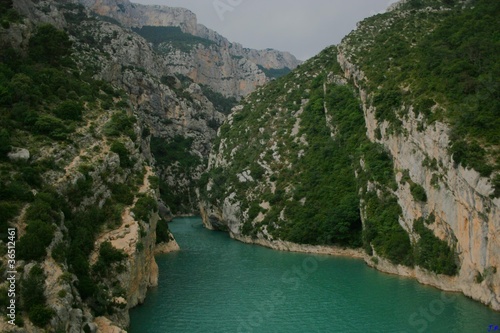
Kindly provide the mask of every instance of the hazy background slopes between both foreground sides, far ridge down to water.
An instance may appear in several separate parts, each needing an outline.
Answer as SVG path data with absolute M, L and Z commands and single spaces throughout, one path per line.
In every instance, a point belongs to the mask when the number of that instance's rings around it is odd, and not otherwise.
M 233 53 L 247 52 L 261 58 L 270 54 L 263 65 L 271 66 L 271 73 L 272 65 L 293 67 L 296 59 L 277 51 L 254 54 L 242 49 L 195 24 L 196 17 L 184 9 L 128 1 L 83 3 L 108 21 L 96 26 L 82 21 L 82 8 L 73 10 L 71 29 L 82 48 L 90 50 L 84 51 L 84 63 L 100 78 L 133 96 L 151 130 L 151 151 L 157 157 L 163 201 L 174 214 L 196 213 L 196 182 L 206 165 L 215 131 L 236 98 L 268 80 L 256 64 Z M 195 28 L 202 37 L 191 34 Z M 92 52 L 96 47 L 106 57 L 96 58 Z

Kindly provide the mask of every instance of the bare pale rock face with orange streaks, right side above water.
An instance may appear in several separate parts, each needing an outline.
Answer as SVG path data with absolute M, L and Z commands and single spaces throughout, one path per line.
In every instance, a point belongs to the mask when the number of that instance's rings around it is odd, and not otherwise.
M 364 74 L 349 62 L 339 48 L 338 61 L 347 78 L 357 84 Z M 455 167 L 448 153 L 450 142 L 449 127 L 440 122 L 418 129 L 419 121 L 410 111 L 403 121 L 405 134 L 385 135 L 387 124 L 378 123 L 375 110 L 369 104 L 367 92 L 360 89 L 367 125 L 367 135 L 375 139 L 375 130 L 380 129 L 382 143 L 391 153 L 396 170 L 408 170 L 413 182 L 421 185 L 427 194 L 427 202 L 416 202 L 409 186 L 399 186 L 396 191 L 399 205 L 403 210 L 401 225 L 412 230 L 413 222 L 433 213 L 436 217 L 432 225 L 434 234 L 455 245 L 460 259 L 457 277 L 435 277 L 434 274 L 417 268 L 410 275 L 420 282 L 445 290 L 461 291 L 496 310 L 500 310 L 500 275 L 485 272 L 500 268 L 500 199 L 491 199 L 493 188 L 489 179 L 481 177 L 475 170 L 462 166 Z M 437 166 L 424 166 L 424 161 L 435 160 Z M 410 228 L 408 228 L 408 226 Z M 377 268 L 400 274 L 398 269 L 388 268 L 389 263 Z M 486 275 L 483 282 L 476 282 L 478 273 Z

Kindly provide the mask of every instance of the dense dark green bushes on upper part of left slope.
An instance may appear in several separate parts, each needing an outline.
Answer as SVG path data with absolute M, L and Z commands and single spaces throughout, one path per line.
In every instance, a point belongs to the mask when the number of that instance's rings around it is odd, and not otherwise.
M 116 92 L 109 84 L 76 69 L 71 45 L 65 32 L 42 25 L 30 40 L 29 57 L 11 48 L 0 51 L 2 152 L 21 144 L 12 139 L 22 138 L 23 132 L 68 141 L 85 116 L 84 102 L 113 104 Z

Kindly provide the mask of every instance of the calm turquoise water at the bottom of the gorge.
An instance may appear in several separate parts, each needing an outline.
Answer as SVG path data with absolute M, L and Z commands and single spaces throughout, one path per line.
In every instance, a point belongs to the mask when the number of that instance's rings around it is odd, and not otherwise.
M 131 311 L 131 333 L 488 332 L 500 313 L 386 275 L 363 261 L 277 252 L 205 230 L 170 228 L 182 251 L 157 257 L 159 288 Z

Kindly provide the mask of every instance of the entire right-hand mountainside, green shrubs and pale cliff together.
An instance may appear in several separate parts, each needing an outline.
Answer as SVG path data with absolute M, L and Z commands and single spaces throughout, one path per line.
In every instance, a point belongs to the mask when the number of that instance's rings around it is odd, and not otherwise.
M 402 1 L 253 93 L 202 178 L 207 227 L 363 247 L 378 269 L 500 309 L 498 14 Z

